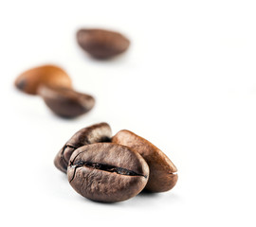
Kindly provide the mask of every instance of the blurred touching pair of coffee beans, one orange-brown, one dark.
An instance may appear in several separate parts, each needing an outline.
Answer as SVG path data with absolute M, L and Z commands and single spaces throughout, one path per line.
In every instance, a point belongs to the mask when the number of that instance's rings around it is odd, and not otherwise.
M 68 75 L 54 65 L 27 70 L 15 80 L 15 86 L 27 94 L 42 96 L 47 107 L 66 118 L 85 114 L 95 104 L 93 96 L 74 91 Z

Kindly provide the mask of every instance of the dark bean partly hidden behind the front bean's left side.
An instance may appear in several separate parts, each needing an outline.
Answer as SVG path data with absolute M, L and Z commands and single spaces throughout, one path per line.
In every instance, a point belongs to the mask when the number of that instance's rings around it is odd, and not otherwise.
M 70 156 L 75 149 L 83 145 L 110 142 L 111 136 L 112 132 L 107 123 L 95 124 L 77 131 L 56 155 L 54 165 L 65 173 Z

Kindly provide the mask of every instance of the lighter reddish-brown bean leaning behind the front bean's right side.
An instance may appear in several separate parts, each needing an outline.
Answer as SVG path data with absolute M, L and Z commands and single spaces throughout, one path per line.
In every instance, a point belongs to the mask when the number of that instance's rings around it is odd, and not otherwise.
M 113 143 L 137 150 L 150 167 L 150 177 L 145 189 L 152 192 L 171 190 L 177 182 L 177 169 L 171 160 L 153 144 L 132 131 L 119 131 Z

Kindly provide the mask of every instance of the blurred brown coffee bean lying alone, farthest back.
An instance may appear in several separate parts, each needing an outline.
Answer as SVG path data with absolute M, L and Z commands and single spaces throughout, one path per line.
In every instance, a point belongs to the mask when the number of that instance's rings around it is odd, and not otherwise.
M 124 52 L 130 41 L 115 31 L 81 29 L 77 32 L 78 44 L 96 59 L 109 59 Z

